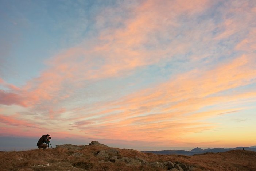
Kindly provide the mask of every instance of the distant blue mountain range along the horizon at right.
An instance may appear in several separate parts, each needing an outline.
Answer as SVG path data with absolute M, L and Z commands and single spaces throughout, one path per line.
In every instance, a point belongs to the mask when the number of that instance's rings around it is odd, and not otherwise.
M 192 156 L 194 154 L 203 154 L 203 153 L 217 153 L 217 152 L 226 152 L 230 150 L 249 150 L 249 151 L 255 151 L 256 152 L 256 146 L 251 146 L 251 147 L 236 147 L 236 148 L 207 148 L 207 149 L 201 149 L 199 147 L 194 148 L 190 151 L 186 150 L 161 150 L 161 151 L 141 151 L 143 153 L 154 153 L 154 154 L 176 154 L 176 155 L 187 155 L 187 156 Z

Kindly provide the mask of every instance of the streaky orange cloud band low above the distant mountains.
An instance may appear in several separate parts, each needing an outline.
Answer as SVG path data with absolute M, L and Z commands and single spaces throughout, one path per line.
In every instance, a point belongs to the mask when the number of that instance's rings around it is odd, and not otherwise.
M 212 105 L 246 104 L 250 99 L 255 101 L 256 94 L 250 90 L 230 92 L 225 96 L 218 94 L 255 83 L 253 78 L 256 76 L 256 70 L 253 64 L 249 63 L 250 60 L 250 57 L 243 55 L 209 71 L 194 70 L 177 75 L 169 82 L 135 92 L 120 99 L 119 102 L 106 103 L 105 107 L 101 106 L 101 108 L 109 108 L 108 110 L 92 112 L 90 116 L 94 118 L 89 119 L 89 116 L 80 118 L 88 118 L 85 122 L 89 122 L 89 125 L 74 125 L 74 127 L 81 129 L 87 135 L 97 135 L 101 138 L 111 134 L 115 138 L 121 137 L 122 140 L 140 141 L 145 139 L 153 141 L 151 137 L 171 140 L 180 134 L 187 135 L 216 128 L 217 124 L 198 121 L 246 108 L 220 107 L 218 110 L 198 111 Z M 174 129 L 175 133 L 169 137 L 168 132 L 173 132 Z M 121 136 L 124 133 L 126 136 Z

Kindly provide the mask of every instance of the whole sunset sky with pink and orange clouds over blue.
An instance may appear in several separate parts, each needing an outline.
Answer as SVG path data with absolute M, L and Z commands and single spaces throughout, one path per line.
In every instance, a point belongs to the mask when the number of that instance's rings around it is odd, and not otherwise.
M 0 150 L 256 145 L 255 0 L 0 0 L 0 26 Z

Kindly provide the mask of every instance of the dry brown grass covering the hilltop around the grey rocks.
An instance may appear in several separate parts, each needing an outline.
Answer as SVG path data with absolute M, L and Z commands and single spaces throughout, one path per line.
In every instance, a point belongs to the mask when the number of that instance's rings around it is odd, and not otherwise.
M 33 170 L 92 170 L 92 171 L 162 171 L 150 165 L 132 166 L 124 162 L 112 163 L 105 158 L 98 158 L 96 154 L 108 147 L 86 146 L 79 151 L 69 151 L 63 148 L 36 149 L 30 151 L 0 152 L 0 170 L 3 171 L 33 171 Z M 196 170 L 210 171 L 256 171 L 256 152 L 234 150 L 222 153 L 206 153 L 194 156 L 156 155 L 141 153 L 132 149 L 119 149 L 117 158 L 139 157 L 147 162 L 182 162 L 194 166 Z M 82 157 L 74 157 L 74 152 L 80 152 Z M 111 156 L 110 156 L 111 157 Z M 101 161 L 105 160 L 105 162 Z M 101 161 L 101 162 L 100 162 Z

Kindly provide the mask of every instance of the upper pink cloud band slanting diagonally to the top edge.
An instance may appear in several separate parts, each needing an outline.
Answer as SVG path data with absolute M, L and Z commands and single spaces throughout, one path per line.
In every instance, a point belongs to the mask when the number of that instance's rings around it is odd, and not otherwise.
M 113 30 L 110 36 L 102 32 L 100 41 L 108 40 L 109 43 L 102 44 L 98 43 L 98 40 L 93 40 L 95 41 L 92 41 L 93 43 L 88 42 L 79 47 L 64 50 L 47 61 L 49 68 L 44 70 L 40 77 L 30 80 L 21 89 L 9 85 L 11 89 L 19 92 L 17 94 L 22 94 L 20 97 L 16 96 L 20 98 L 18 104 L 34 106 L 45 101 L 57 104 L 69 98 L 73 89 L 83 86 L 83 81 L 97 81 L 127 75 L 137 67 L 159 62 L 165 51 L 159 50 L 153 53 L 146 49 L 134 49 L 134 47 L 147 42 L 149 34 L 162 31 L 162 26 L 175 25 L 172 20 L 159 23 L 159 18 L 170 16 L 175 18 L 185 11 L 193 15 L 203 11 L 208 4 L 207 1 L 193 3 L 177 1 L 175 7 L 172 7 L 175 11 L 171 13 L 170 5 L 173 3 L 166 5 L 159 5 L 157 1 L 143 3 L 134 11 L 136 18 L 124 21 L 126 26 L 124 29 Z M 194 8 L 194 5 L 197 8 Z M 62 94 L 62 92 L 67 93 Z

